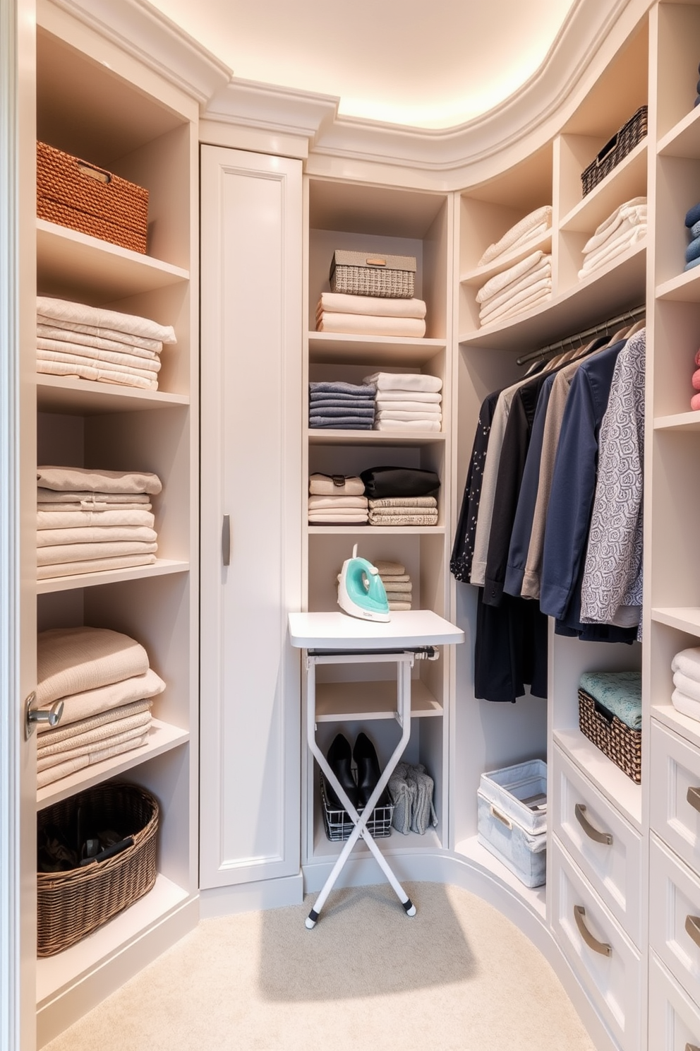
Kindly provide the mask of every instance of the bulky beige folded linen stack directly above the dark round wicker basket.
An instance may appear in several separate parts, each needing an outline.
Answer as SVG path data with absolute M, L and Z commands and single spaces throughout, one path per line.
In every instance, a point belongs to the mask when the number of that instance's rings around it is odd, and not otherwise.
M 37 639 L 37 701 L 63 700 L 56 728 L 38 724 L 38 787 L 148 740 L 151 704 L 165 682 L 128 635 L 104 627 L 56 627 Z

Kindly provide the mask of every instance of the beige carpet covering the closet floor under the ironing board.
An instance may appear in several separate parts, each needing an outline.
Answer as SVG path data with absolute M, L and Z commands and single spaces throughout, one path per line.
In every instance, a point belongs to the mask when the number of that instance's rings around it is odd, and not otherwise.
M 386 885 L 203 921 L 50 1051 L 593 1051 L 554 971 L 457 887 Z

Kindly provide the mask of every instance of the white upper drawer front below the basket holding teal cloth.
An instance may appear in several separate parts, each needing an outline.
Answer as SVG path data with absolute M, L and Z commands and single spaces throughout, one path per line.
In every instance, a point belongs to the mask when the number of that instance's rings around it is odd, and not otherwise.
M 639 945 L 639 833 L 557 747 L 553 771 L 552 829 L 625 933 Z

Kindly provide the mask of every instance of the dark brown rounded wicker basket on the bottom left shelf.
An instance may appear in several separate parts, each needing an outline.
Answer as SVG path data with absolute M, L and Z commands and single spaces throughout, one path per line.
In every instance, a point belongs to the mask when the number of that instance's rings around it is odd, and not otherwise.
M 133 845 L 103 862 L 37 874 L 37 952 L 52 956 L 142 898 L 155 883 L 158 805 L 135 785 L 105 783 L 39 811 L 38 827 L 115 828 Z M 97 823 L 97 824 L 96 824 Z

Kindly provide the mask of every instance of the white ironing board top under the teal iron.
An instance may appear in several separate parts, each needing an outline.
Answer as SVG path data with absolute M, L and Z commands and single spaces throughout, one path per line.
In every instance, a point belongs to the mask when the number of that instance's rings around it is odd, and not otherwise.
M 432 610 L 393 613 L 388 623 L 346 613 L 291 613 L 292 645 L 303 650 L 401 650 L 464 642 L 464 632 Z

